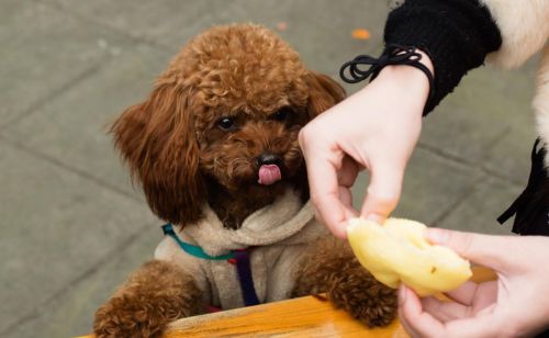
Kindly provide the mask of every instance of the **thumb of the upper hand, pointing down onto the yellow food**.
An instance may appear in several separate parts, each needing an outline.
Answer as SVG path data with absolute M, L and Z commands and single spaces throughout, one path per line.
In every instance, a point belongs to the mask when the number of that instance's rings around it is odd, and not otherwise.
M 399 203 L 404 170 L 394 166 L 376 166 L 370 171 L 370 184 L 360 215 L 382 224 Z

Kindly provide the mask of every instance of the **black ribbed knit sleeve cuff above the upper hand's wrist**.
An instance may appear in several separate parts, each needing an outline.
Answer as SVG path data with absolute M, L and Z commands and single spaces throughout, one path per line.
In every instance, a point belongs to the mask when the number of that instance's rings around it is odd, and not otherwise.
M 415 46 L 429 55 L 435 88 L 426 113 L 502 44 L 490 11 L 478 0 L 406 0 L 389 14 L 384 40 L 386 45 Z

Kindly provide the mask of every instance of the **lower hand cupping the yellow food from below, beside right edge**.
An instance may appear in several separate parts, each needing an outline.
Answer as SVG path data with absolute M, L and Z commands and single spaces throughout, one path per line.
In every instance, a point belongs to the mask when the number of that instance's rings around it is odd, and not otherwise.
M 549 238 L 429 229 L 427 239 L 493 269 L 497 281 L 466 282 L 452 302 L 399 292 L 399 316 L 413 337 L 519 337 L 549 327 Z

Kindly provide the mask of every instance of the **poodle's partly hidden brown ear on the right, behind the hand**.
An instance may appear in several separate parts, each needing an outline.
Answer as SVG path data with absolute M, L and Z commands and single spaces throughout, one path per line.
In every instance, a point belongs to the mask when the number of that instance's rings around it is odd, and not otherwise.
M 346 97 L 345 89 L 327 75 L 311 71 L 306 75 L 306 82 L 309 84 L 307 110 L 310 120 L 343 101 Z

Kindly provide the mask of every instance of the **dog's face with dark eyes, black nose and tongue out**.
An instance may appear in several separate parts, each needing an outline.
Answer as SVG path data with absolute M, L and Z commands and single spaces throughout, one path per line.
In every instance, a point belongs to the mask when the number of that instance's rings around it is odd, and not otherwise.
M 271 189 L 302 167 L 298 133 L 309 121 L 301 106 L 215 113 L 198 131 L 200 168 L 227 190 Z M 200 119 L 199 119 L 200 120 Z

